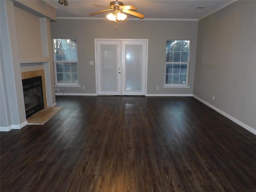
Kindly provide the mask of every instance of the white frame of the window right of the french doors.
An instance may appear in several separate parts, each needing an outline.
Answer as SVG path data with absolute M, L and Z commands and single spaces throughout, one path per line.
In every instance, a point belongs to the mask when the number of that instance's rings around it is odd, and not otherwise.
M 165 68 L 164 68 L 164 88 L 168 87 L 180 87 L 180 88 L 189 88 L 188 86 L 188 72 L 189 72 L 189 64 L 190 64 L 190 46 L 191 46 L 191 40 L 166 40 L 167 41 L 189 41 L 189 51 L 188 51 L 188 62 L 166 62 L 165 58 Z M 181 51 L 182 52 L 182 51 Z M 166 57 L 166 56 L 165 56 Z M 166 84 L 166 65 L 167 64 L 186 64 L 187 65 L 187 73 L 186 73 L 186 84 Z M 180 74 L 180 73 L 179 73 Z

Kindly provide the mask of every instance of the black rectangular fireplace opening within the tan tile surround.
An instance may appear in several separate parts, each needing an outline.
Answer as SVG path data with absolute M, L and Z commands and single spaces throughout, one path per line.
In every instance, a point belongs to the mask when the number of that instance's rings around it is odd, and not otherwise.
M 28 118 L 44 108 L 42 76 L 23 79 L 22 86 L 26 118 Z

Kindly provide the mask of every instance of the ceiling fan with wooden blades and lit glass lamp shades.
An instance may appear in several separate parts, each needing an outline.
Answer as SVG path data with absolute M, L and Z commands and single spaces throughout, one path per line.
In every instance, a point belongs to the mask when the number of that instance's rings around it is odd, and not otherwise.
M 124 13 L 127 13 L 127 14 L 130 14 L 132 16 L 135 16 L 135 17 L 138 17 L 140 19 L 143 19 L 144 18 L 144 14 L 141 14 L 141 13 L 138 13 L 138 12 L 135 12 L 137 10 L 137 8 L 133 5 L 124 5 L 122 2 L 120 1 L 112 1 L 110 2 L 110 6 L 104 6 L 104 5 L 95 5 L 93 4 L 93 6 L 97 6 L 97 7 L 105 7 L 105 8 L 108 8 L 106 10 L 102 10 L 102 11 L 98 11 L 98 12 L 94 12 L 94 13 L 90 13 L 90 15 L 95 15 L 95 14 L 99 14 L 99 13 L 103 13 L 103 12 L 106 12 L 106 11 L 114 11 L 114 13 L 112 13 L 116 18 L 115 20 L 111 20 L 111 21 L 115 21 L 116 20 L 120 20 L 117 18 L 118 16 L 118 13 L 122 14 L 122 12 Z M 108 17 L 107 17 L 108 18 Z M 126 18 L 126 16 L 125 16 Z M 125 19 L 124 18 L 124 19 Z M 109 18 L 108 18 L 109 19 Z M 123 20 L 124 20 L 123 19 Z M 110 19 L 109 19 L 110 20 Z

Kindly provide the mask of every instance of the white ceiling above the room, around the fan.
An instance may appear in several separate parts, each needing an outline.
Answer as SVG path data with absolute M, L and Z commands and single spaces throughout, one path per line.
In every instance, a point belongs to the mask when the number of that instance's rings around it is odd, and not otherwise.
M 105 18 L 109 12 L 90 16 L 92 12 L 107 8 L 93 4 L 110 6 L 113 0 L 68 0 L 68 6 L 59 4 L 58 0 L 45 0 L 56 8 L 57 18 Z M 144 20 L 200 20 L 205 16 L 224 8 L 235 0 L 120 0 L 124 5 L 134 5 L 139 13 L 145 15 Z M 195 10 L 198 6 L 206 6 L 203 10 Z M 128 15 L 128 14 L 127 14 Z M 138 19 L 128 15 L 128 19 Z

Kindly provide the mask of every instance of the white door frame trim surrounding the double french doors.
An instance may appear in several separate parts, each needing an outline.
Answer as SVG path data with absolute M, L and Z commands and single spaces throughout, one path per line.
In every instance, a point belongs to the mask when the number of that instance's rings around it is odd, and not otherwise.
M 148 82 L 148 39 L 113 39 L 113 38 L 95 38 L 94 39 L 94 53 L 95 53 L 95 80 L 96 80 L 96 95 L 98 95 L 98 73 L 97 73 L 97 41 L 146 41 L 146 74 L 145 74 L 145 96 L 147 95 Z M 122 50 L 121 50 L 122 54 Z

